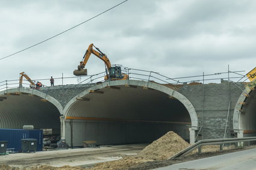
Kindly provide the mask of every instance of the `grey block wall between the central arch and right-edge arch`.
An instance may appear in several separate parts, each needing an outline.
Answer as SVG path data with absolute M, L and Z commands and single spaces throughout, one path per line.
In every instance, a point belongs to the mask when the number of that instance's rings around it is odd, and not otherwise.
M 242 83 L 234 85 L 234 83 L 222 81 L 222 83 L 204 85 L 184 85 L 178 90 L 190 100 L 198 114 L 199 129 L 201 126 L 202 129 L 200 132 L 196 131 L 196 134 L 199 133 L 197 140 L 223 138 L 225 128 L 227 128 L 225 138 L 234 137 L 233 114 L 242 93 L 240 88 L 244 89 Z

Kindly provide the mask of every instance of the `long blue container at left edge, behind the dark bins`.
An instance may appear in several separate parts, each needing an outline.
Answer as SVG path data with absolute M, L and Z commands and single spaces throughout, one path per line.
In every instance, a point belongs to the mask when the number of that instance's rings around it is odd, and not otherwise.
M 43 130 L 0 129 L 0 141 L 8 141 L 8 148 L 22 152 L 21 139 L 37 139 L 37 151 L 43 150 Z

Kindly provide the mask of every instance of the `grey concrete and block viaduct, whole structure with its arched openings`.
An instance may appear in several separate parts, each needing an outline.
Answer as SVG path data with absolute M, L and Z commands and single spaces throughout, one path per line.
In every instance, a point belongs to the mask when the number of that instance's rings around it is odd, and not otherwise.
M 169 130 L 190 143 L 224 134 L 225 138 L 255 135 L 254 97 L 243 97 L 240 88 L 228 87 L 225 81 L 174 87 L 116 80 L 40 90 L 13 88 L 0 92 L 0 128 L 19 129 L 25 124 L 52 128 L 70 146 L 90 140 L 97 144 L 152 142 Z M 251 89 L 250 95 L 255 96 L 255 91 Z M 246 118 L 243 112 L 249 113 Z

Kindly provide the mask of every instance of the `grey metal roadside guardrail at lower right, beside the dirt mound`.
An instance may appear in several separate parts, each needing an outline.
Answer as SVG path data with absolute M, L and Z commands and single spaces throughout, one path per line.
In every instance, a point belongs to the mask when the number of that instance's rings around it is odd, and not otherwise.
M 170 159 L 175 159 L 176 157 L 185 156 L 186 154 L 191 153 L 196 148 L 198 148 L 198 153 L 201 153 L 203 145 L 218 145 L 219 144 L 220 150 L 222 150 L 223 144 L 237 143 L 237 145 L 238 145 L 239 142 L 250 142 L 250 141 L 256 141 L 256 137 L 204 139 L 204 140 L 196 142 L 193 145 L 190 145 L 189 147 L 180 151 L 179 153 L 176 153 L 175 155 L 170 157 Z

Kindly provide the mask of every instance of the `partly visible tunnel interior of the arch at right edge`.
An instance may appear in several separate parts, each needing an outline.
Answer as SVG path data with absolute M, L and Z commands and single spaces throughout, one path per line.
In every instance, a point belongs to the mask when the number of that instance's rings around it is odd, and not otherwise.
M 243 136 L 256 136 L 256 91 L 251 90 L 240 112 L 240 129 Z

